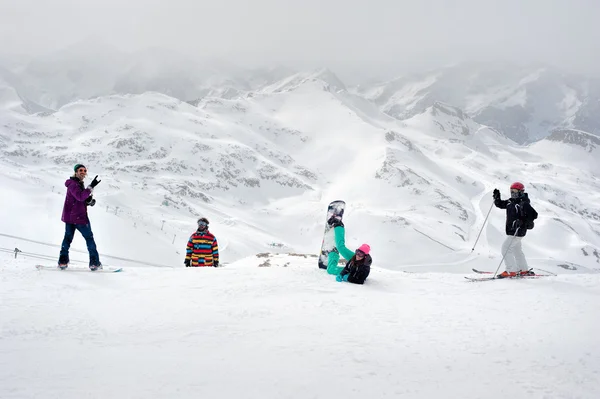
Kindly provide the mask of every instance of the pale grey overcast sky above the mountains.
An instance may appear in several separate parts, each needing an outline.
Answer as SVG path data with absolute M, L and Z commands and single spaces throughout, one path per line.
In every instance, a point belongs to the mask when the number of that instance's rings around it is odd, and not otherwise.
M 0 53 L 91 35 L 253 65 L 378 72 L 499 59 L 600 70 L 600 0 L 0 0 Z

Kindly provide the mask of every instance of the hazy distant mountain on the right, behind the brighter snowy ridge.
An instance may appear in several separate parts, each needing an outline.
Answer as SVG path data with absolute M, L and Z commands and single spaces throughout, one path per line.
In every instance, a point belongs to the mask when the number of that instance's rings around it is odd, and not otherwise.
M 442 101 L 518 143 L 539 140 L 556 128 L 600 135 L 600 81 L 550 67 L 459 64 L 355 91 L 398 119 Z

